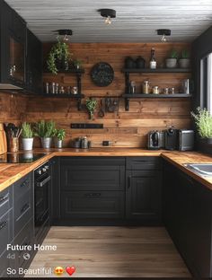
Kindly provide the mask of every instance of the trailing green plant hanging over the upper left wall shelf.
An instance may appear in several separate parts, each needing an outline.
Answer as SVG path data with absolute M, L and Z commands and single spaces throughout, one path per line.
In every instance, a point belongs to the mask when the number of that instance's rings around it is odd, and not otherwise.
M 47 59 L 48 70 L 52 74 L 57 74 L 59 70 L 68 70 L 68 64 L 72 54 L 69 51 L 68 44 L 60 39 L 52 46 Z

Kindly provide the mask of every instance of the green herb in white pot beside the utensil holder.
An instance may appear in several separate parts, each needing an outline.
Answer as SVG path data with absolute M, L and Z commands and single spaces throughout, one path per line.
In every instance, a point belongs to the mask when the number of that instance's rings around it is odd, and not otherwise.
M 23 151 L 31 151 L 33 146 L 34 132 L 30 123 L 22 123 L 22 149 Z

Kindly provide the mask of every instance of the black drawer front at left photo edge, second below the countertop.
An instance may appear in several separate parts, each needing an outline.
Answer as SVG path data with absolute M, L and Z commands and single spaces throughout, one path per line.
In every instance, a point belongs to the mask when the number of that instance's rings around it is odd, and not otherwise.
M 0 217 L 0 255 L 12 241 L 12 210 Z

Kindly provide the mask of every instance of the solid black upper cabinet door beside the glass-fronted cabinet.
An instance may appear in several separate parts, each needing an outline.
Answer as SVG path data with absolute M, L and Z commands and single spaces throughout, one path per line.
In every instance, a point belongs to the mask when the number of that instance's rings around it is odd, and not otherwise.
M 26 89 L 29 92 L 42 93 L 42 44 L 27 30 Z

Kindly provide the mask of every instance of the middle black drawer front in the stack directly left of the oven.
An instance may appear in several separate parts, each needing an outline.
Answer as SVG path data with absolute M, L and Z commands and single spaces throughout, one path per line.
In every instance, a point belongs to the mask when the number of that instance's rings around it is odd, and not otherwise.
M 31 219 L 31 190 L 14 202 L 14 209 L 14 236 L 16 236 Z

